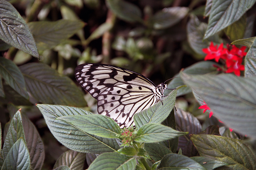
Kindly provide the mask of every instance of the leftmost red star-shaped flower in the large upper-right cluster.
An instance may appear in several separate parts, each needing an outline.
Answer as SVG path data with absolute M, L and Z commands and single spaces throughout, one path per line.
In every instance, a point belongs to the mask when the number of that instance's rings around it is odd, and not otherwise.
M 203 48 L 202 51 L 207 54 L 204 58 L 204 60 L 212 60 L 215 59 L 216 62 L 219 62 L 222 55 L 225 55 L 225 51 L 223 51 L 223 43 L 218 45 L 213 45 L 213 42 L 211 42 L 210 46 L 208 48 Z

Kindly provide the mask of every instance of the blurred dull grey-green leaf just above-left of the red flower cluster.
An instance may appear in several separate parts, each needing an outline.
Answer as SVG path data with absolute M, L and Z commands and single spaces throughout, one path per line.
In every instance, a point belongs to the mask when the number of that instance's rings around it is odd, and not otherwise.
M 221 39 L 217 34 L 215 34 L 204 40 L 203 35 L 206 31 L 207 24 L 200 22 L 195 15 L 191 15 L 190 18 L 191 19 L 187 24 L 187 36 L 189 45 L 196 53 L 205 56 L 205 53 L 202 52 L 202 49 L 208 48 L 211 41 L 217 44 L 221 43 Z

